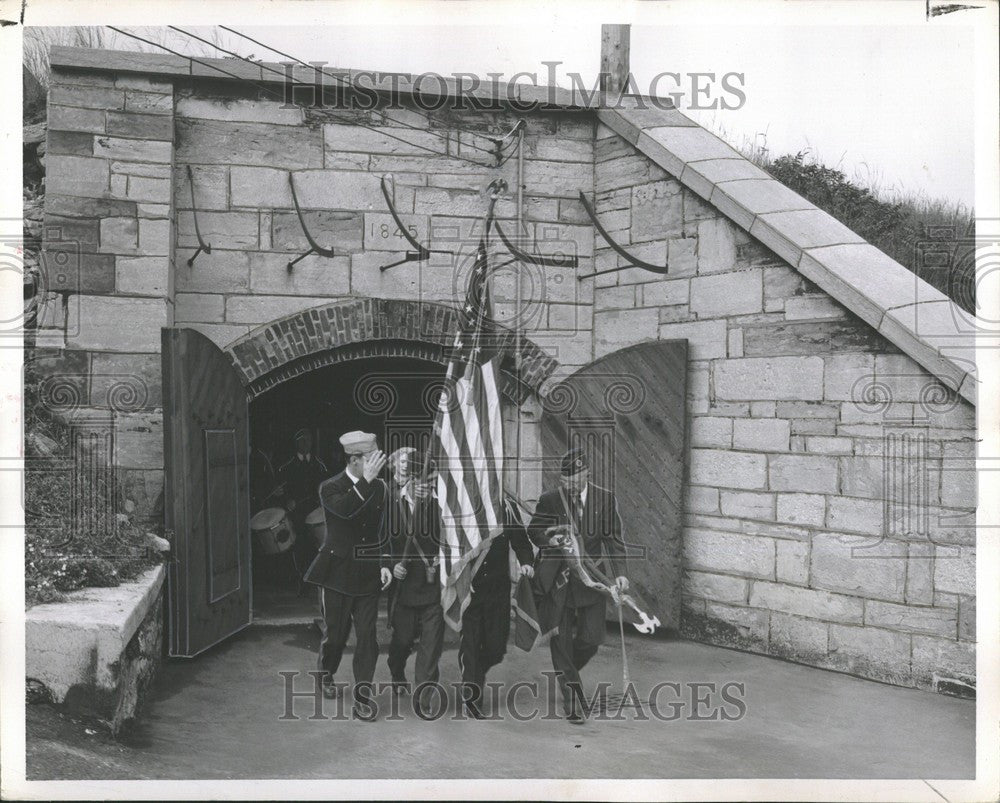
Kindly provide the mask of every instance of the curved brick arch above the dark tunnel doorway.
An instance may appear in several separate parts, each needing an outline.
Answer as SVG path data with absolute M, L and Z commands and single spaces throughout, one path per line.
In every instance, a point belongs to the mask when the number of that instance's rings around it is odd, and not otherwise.
M 278 318 L 230 343 L 225 351 L 251 398 L 306 371 L 364 357 L 416 357 L 446 364 L 458 311 L 447 304 L 406 299 L 335 301 Z M 514 333 L 495 326 L 501 350 L 513 354 Z M 541 387 L 558 362 L 521 338 L 524 390 Z M 507 395 L 519 398 L 513 381 Z

